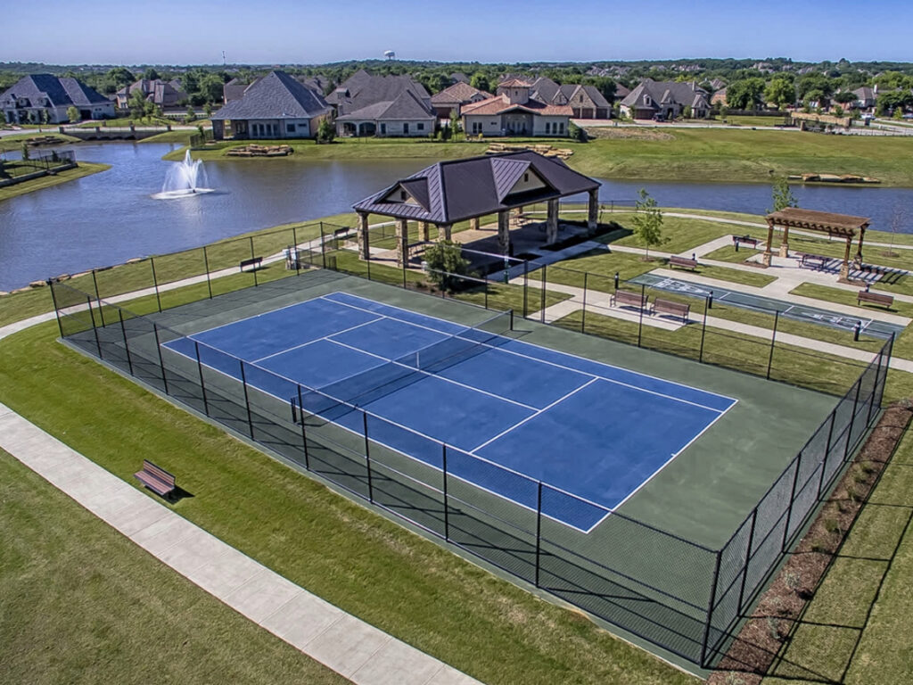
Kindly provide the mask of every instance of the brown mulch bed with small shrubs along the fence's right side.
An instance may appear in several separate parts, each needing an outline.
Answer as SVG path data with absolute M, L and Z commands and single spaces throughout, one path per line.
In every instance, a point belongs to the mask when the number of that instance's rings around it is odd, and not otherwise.
M 911 417 L 913 407 L 908 402 L 887 409 L 780 574 L 761 595 L 729 652 L 708 678 L 709 685 L 761 682 L 887 468 Z

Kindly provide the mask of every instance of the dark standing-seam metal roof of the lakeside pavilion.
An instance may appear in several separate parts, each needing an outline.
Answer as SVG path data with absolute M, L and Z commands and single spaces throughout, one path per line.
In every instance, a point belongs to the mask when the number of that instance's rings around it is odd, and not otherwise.
M 528 170 L 537 174 L 545 187 L 511 194 L 510 190 Z M 452 224 L 598 187 L 598 181 L 573 171 L 561 160 L 524 151 L 438 162 L 364 198 L 352 208 L 413 221 Z M 397 189 L 413 201 L 391 201 Z

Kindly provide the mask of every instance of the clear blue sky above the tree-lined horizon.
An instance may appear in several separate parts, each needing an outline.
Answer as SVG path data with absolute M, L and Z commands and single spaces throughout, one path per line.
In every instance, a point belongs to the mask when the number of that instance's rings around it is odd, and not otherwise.
M 7 0 L 0 24 L 0 61 L 54 64 L 913 60 L 909 0 Z

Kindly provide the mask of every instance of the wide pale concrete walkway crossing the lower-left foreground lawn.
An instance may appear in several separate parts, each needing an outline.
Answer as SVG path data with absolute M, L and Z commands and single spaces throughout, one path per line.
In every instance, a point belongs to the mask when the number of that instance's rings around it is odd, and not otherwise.
M 5 327 L 8 328 L 11 327 Z M 5 329 L 0 329 L 0 336 Z M 68 448 L 3 404 L 0 448 L 163 564 L 352 682 L 478 683 L 311 595 Z

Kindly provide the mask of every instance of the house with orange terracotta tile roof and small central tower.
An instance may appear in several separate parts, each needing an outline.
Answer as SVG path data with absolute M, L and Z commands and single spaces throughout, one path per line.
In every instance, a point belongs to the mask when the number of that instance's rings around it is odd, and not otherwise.
M 498 95 L 462 108 L 463 130 L 487 136 L 567 135 L 571 107 L 539 100 L 530 90 L 532 85 L 520 79 L 500 83 Z

